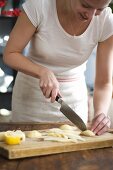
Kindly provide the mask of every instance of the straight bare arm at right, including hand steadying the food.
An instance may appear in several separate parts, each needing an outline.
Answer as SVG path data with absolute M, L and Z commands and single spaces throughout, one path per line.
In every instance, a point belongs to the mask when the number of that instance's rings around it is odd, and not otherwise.
M 96 59 L 94 114 L 92 130 L 102 134 L 110 126 L 107 112 L 112 97 L 113 36 L 99 43 Z

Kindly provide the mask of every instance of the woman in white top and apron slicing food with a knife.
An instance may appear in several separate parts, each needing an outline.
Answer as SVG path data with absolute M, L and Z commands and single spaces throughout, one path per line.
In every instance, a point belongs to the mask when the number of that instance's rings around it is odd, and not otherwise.
M 57 95 L 87 123 L 84 71 L 97 47 L 91 130 L 110 127 L 112 95 L 113 15 L 110 0 L 27 0 L 10 34 L 4 62 L 18 70 L 13 89 L 13 121 L 66 121 Z M 22 54 L 30 41 L 28 56 Z M 50 100 L 51 99 L 51 102 Z

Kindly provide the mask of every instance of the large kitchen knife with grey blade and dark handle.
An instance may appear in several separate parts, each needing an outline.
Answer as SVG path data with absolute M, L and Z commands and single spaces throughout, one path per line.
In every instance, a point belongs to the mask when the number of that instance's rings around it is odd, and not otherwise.
M 62 100 L 61 96 L 56 97 L 56 101 L 61 104 L 60 111 L 80 130 L 85 131 L 87 127 L 83 120 Z

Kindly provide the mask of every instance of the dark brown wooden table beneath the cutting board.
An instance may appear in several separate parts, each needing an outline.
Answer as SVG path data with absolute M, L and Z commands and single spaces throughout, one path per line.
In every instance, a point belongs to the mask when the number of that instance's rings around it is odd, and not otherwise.
M 0 131 L 33 130 L 58 127 L 59 124 L 1 123 Z M 0 170 L 113 170 L 113 148 L 61 153 L 8 160 L 0 156 Z

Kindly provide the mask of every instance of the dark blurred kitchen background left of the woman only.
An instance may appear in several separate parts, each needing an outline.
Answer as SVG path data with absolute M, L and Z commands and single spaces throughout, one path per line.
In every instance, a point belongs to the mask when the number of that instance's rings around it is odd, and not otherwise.
M 16 77 L 16 71 L 3 63 L 3 51 L 23 2 L 0 0 L 0 121 L 10 120 L 12 89 Z

